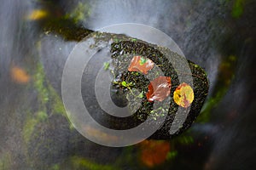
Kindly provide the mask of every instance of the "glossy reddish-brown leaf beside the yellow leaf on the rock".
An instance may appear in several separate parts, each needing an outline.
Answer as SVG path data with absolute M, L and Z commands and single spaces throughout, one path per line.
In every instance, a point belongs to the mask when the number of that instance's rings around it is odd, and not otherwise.
M 148 85 L 147 99 L 153 102 L 154 99 L 163 101 L 171 91 L 171 77 L 157 77 Z

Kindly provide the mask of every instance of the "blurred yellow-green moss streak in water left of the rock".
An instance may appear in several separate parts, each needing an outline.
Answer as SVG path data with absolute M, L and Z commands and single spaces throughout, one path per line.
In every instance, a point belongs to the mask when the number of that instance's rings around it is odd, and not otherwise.
M 67 117 L 60 96 L 45 78 L 43 65 L 38 64 L 33 80 L 33 87 L 38 93 L 38 111 L 34 113 L 27 111 L 26 121 L 22 131 L 26 144 L 32 139 L 32 134 L 37 125 L 40 126 L 40 123 L 47 121 L 50 116 L 57 114 Z

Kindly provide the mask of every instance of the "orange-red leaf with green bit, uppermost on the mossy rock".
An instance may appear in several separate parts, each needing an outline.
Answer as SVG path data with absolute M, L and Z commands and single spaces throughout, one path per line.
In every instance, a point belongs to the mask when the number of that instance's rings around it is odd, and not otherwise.
M 153 69 L 154 62 L 151 59 L 146 59 L 141 56 L 134 56 L 131 59 L 128 71 L 139 71 L 143 74 L 148 74 L 148 71 Z

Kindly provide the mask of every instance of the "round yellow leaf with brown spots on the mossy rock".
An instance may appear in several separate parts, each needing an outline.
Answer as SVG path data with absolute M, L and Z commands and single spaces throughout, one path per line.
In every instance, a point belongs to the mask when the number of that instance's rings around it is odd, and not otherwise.
M 177 105 L 187 108 L 194 100 L 194 91 L 189 84 L 183 82 L 175 89 L 173 99 Z

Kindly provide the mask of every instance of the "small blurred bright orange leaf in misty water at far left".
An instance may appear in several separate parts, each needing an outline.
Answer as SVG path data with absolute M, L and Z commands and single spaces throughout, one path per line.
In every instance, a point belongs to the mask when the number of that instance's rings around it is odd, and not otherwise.
M 17 67 L 17 66 L 13 66 L 11 68 L 11 78 L 14 82 L 17 82 L 17 83 L 21 83 L 21 84 L 24 84 L 24 83 L 27 83 L 29 82 L 30 80 L 30 77 L 29 75 L 26 73 L 26 71 L 24 71 L 23 69 L 21 69 L 20 67 Z

